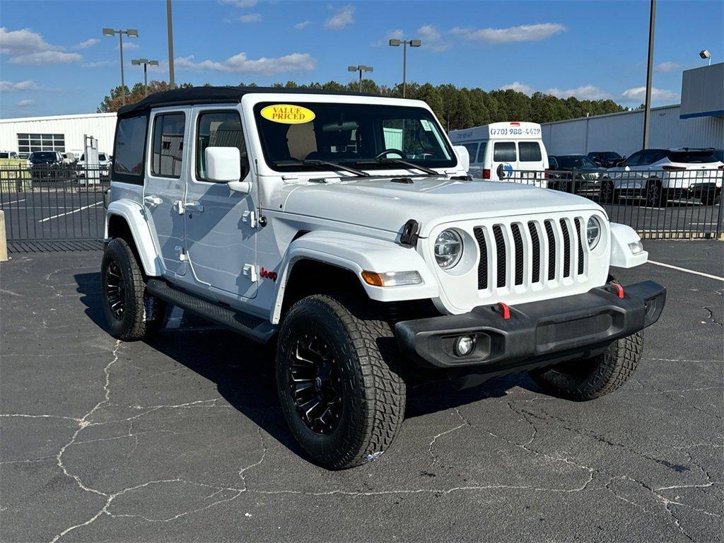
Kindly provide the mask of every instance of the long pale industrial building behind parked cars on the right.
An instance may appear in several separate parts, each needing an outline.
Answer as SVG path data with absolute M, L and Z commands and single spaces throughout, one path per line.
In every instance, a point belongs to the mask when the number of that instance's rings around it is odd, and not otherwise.
M 549 154 L 616 151 L 622 156 L 641 150 L 644 110 L 547 122 L 543 143 Z M 649 148 L 724 148 L 724 63 L 686 70 L 681 104 L 651 110 Z

